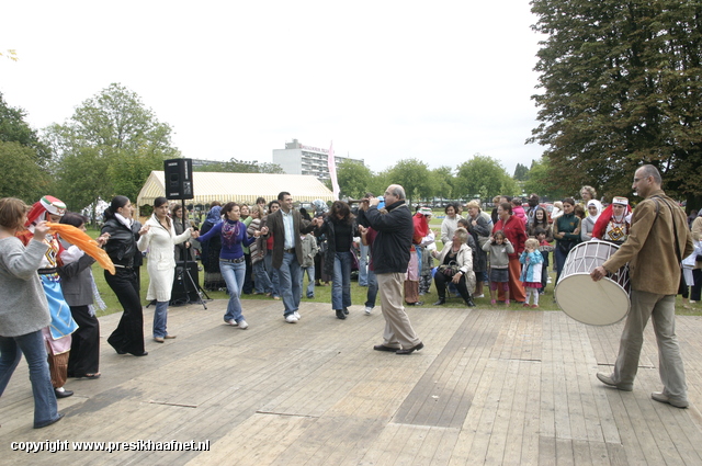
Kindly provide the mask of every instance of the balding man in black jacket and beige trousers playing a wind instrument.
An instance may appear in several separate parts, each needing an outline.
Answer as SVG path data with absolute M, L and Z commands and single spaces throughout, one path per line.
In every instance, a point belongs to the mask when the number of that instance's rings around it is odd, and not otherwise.
M 381 306 L 385 317 L 383 344 L 373 346 L 376 351 L 396 354 L 411 354 L 424 348 L 403 305 L 403 284 L 409 263 L 415 226 L 412 214 L 405 201 L 405 190 L 399 184 L 390 184 L 384 194 L 385 207 L 380 209 L 378 197 L 371 197 L 361 204 L 359 223 L 371 226 L 377 234 L 373 241 L 371 257 L 373 270 L 381 292 Z

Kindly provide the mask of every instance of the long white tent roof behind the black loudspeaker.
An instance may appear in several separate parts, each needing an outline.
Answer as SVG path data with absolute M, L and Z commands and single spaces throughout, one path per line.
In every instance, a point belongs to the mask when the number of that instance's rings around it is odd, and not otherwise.
M 295 202 L 314 200 L 335 201 L 333 193 L 317 178 L 307 174 L 271 174 L 271 173 L 219 173 L 194 171 L 193 192 L 195 197 L 185 204 L 211 204 L 219 201 L 235 201 L 254 204 L 257 197 L 267 202 L 278 198 L 281 191 L 287 191 Z M 152 205 L 158 196 L 166 195 L 162 171 L 152 171 L 144 183 L 136 198 L 137 208 Z

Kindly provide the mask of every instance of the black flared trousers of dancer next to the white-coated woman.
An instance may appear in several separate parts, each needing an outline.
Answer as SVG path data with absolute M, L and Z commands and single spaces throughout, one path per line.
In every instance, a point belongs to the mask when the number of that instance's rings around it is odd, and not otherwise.
M 116 351 L 144 352 L 144 314 L 137 287 L 136 273 L 132 269 L 117 268 L 111 275 L 105 271 L 105 281 L 117 296 L 124 314 L 117 328 L 107 339 Z

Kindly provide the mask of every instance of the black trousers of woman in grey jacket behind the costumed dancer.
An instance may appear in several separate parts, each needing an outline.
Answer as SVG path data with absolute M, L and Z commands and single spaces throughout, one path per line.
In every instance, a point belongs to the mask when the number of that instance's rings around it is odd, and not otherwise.
M 97 374 L 100 372 L 100 321 L 90 315 L 88 306 L 71 306 L 70 314 L 78 330 L 71 334 L 68 376 Z

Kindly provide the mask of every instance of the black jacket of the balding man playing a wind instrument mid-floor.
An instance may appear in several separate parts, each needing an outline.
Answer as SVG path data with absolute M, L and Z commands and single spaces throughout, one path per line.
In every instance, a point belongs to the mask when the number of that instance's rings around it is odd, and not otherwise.
M 375 273 L 407 272 L 415 225 L 405 200 L 385 206 L 381 211 L 371 207 L 363 213 L 363 217 L 364 219 L 359 219 L 359 223 L 362 224 L 365 220 L 377 231 L 372 247 Z

